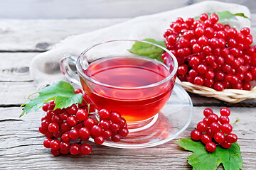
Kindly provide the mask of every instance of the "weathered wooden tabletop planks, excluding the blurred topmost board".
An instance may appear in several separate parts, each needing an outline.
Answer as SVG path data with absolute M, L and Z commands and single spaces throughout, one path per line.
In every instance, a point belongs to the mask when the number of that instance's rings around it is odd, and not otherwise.
M 221 106 L 230 106 L 231 122 L 240 118 L 233 132 L 239 138 L 243 169 L 255 169 L 256 100 L 235 105 L 190 94 L 195 106 L 193 120 L 176 140 L 146 149 L 114 149 L 92 144 L 92 154 L 75 157 L 53 157 L 49 149 L 43 147 L 44 137 L 38 132 L 42 112 L 18 118 L 22 112 L 18 106 L 36 91 L 29 74 L 29 62 L 34 56 L 49 50 L 68 35 L 86 33 L 127 19 L 0 19 L 0 169 L 191 169 L 186 161 L 191 152 L 177 147 L 174 141 L 189 137 L 208 106 L 215 112 Z M 256 35 L 256 14 L 252 14 L 252 34 Z

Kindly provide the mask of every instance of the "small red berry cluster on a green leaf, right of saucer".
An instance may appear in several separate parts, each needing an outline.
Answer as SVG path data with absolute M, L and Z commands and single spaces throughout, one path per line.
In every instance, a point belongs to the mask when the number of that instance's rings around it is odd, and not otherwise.
M 201 140 L 206 145 L 208 152 L 214 152 L 218 144 L 228 149 L 232 143 L 237 142 L 238 136 L 231 133 L 233 127 L 229 123 L 229 108 L 221 108 L 220 117 L 213 113 L 210 108 L 206 108 L 203 111 L 203 115 L 206 118 L 203 118 L 203 121 L 196 126 L 197 129 L 191 132 L 191 138 L 193 140 Z

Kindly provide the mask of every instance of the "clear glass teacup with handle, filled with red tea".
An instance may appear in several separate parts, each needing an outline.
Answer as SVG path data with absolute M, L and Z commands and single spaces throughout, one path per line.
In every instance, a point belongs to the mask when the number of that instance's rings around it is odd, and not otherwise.
M 134 43 L 167 52 L 167 64 L 129 52 Z M 75 63 L 78 75 L 69 67 Z M 65 77 L 82 89 L 97 108 L 119 112 L 129 130 L 146 128 L 157 120 L 174 88 L 178 63 L 166 48 L 138 40 L 112 40 L 88 47 L 79 57 L 60 62 Z

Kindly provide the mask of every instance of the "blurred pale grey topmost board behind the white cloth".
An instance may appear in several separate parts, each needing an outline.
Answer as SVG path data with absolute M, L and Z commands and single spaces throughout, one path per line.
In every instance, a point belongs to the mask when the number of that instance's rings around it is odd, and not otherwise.
M 130 18 L 195 4 L 203 0 L 1 0 L 0 18 Z M 218 0 L 242 4 L 256 13 L 255 0 Z

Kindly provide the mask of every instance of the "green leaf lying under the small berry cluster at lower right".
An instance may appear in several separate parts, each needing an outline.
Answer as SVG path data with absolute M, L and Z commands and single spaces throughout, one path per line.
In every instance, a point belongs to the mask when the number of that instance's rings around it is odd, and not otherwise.
M 233 143 L 229 149 L 217 146 L 215 152 L 208 152 L 201 142 L 193 141 L 191 137 L 181 139 L 175 143 L 193 152 L 191 156 L 187 157 L 188 164 L 191 164 L 193 169 L 217 169 L 220 164 L 223 164 L 225 170 L 242 169 L 242 157 L 237 142 Z

